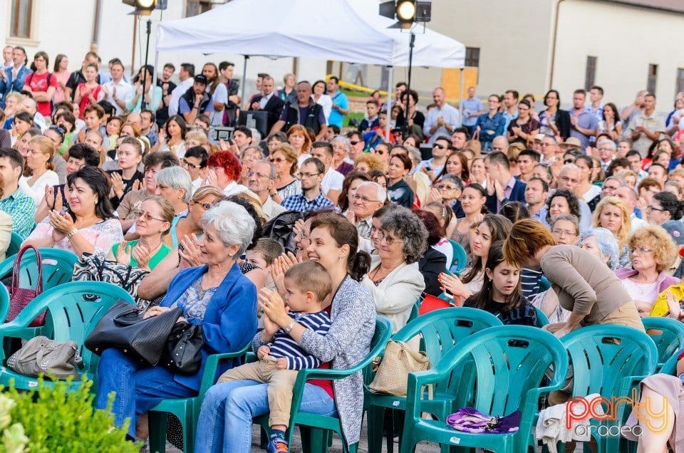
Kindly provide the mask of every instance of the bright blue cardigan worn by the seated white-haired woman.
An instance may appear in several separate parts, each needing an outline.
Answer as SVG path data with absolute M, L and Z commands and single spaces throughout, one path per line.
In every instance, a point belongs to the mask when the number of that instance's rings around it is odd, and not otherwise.
M 201 266 L 180 271 L 171 281 L 169 291 L 160 306 L 170 307 L 178 302 L 177 306 L 183 309 L 185 316 L 185 301 L 179 299 L 192 283 L 202 278 L 207 269 L 207 266 Z M 234 264 L 207 305 L 204 319 L 200 321 L 199 318 L 190 318 L 188 322 L 199 324 L 204 332 L 202 366 L 195 375 L 176 374 L 173 380 L 199 390 L 207 355 L 239 350 L 257 333 L 257 288 L 249 278 L 242 275 L 239 266 Z M 239 359 L 223 365 L 219 373 L 234 365 L 239 365 Z

